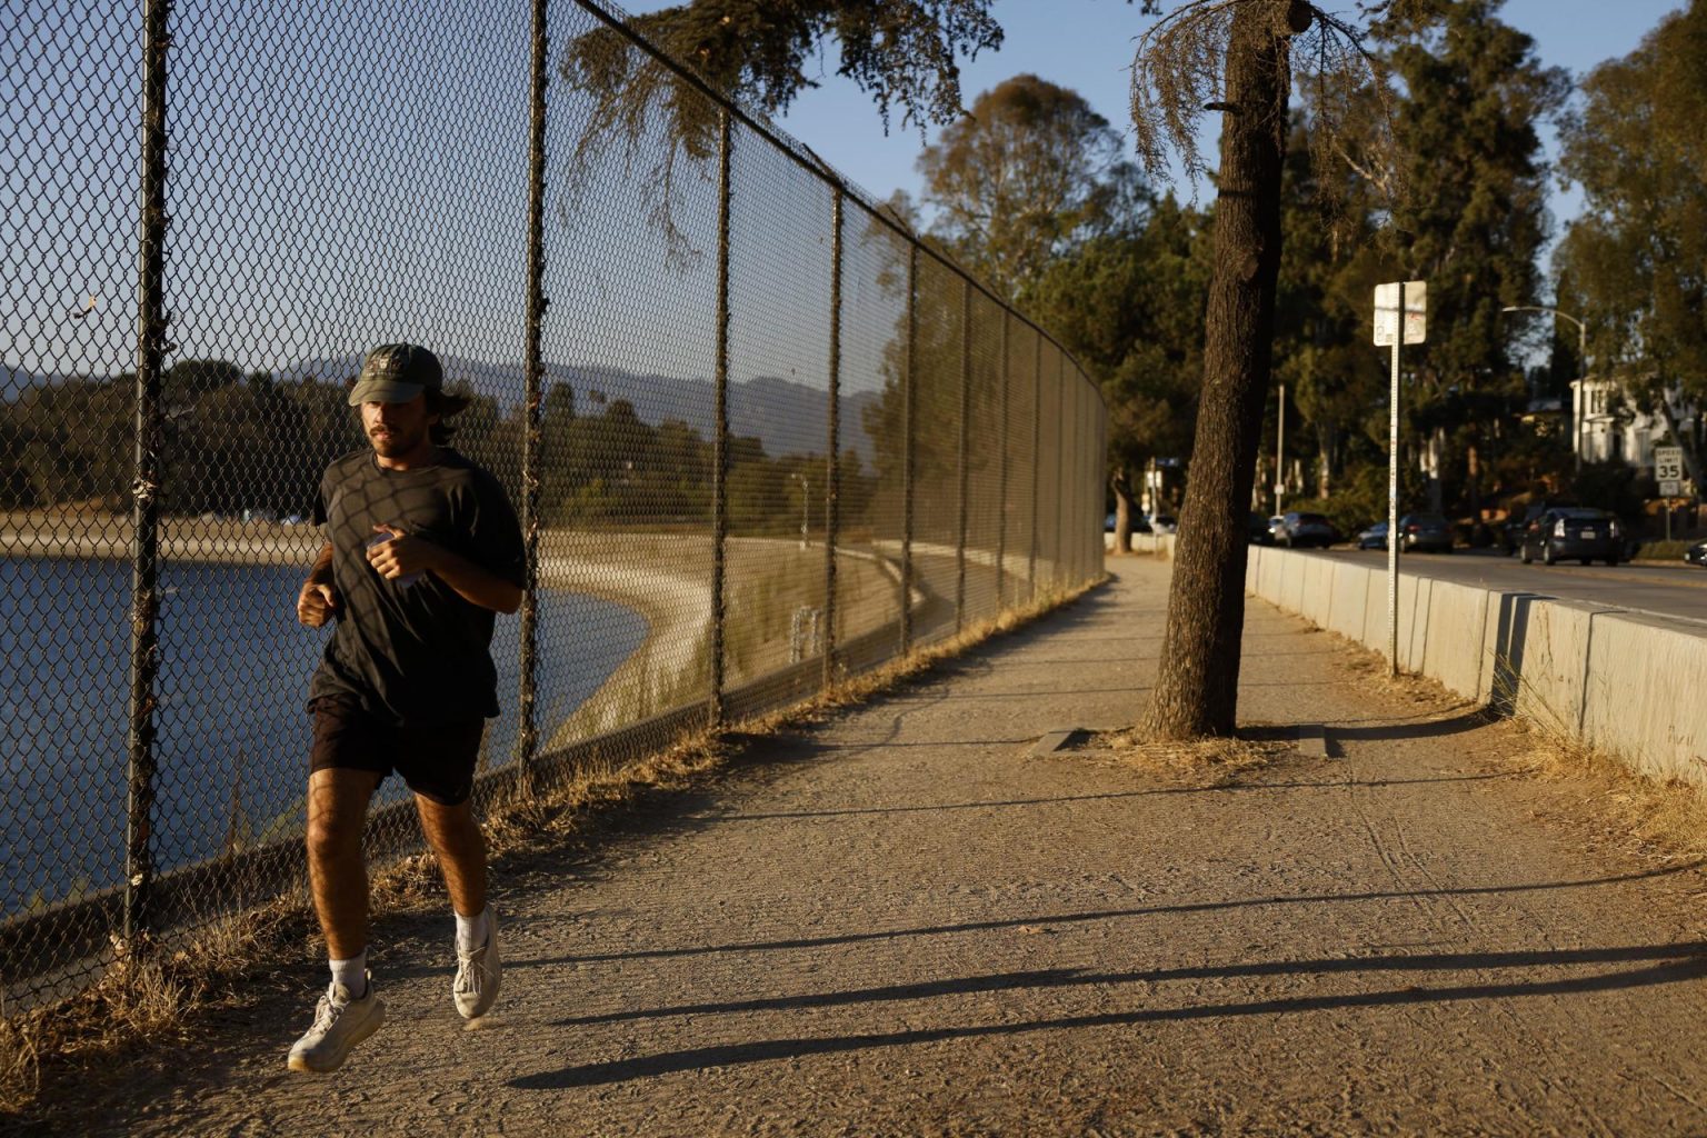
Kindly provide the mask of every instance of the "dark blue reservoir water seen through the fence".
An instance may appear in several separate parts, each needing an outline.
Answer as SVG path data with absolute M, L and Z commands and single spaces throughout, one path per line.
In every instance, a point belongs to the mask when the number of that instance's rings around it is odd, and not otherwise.
M 167 565 L 160 573 L 160 870 L 302 833 L 307 682 L 331 630 L 297 624 L 297 566 Z M 123 880 L 130 729 L 130 565 L 0 558 L 0 914 Z M 645 619 L 539 590 L 538 722 L 550 737 L 645 638 Z M 551 645 L 572 645 L 553 652 Z M 486 763 L 512 761 L 519 623 L 492 642 L 504 715 Z M 381 798 L 406 795 L 398 778 Z

